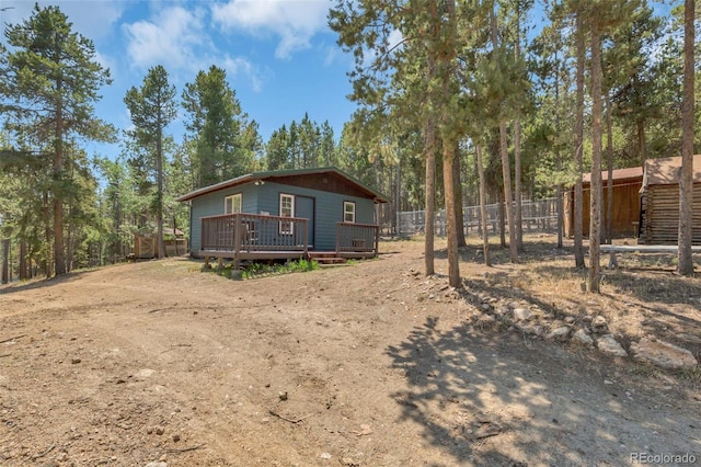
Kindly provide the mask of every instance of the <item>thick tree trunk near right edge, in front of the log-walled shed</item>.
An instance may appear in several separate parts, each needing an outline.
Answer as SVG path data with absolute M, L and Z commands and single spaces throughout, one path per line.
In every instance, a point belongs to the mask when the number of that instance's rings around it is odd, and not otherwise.
M 679 238 L 677 272 L 693 275 L 693 119 L 694 0 L 683 8 L 683 98 L 681 103 L 681 173 L 679 176 Z

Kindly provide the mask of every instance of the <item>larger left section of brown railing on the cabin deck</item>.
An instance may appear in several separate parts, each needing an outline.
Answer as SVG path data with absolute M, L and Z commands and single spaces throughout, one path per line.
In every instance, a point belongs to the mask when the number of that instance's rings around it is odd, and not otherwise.
M 202 218 L 204 251 L 301 251 L 307 254 L 309 220 L 258 214 Z

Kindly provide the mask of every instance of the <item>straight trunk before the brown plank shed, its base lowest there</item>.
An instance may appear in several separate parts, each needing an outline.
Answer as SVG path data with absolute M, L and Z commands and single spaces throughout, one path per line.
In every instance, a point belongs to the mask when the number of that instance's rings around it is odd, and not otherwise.
M 601 278 L 601 36 L 599 24 L 591 24 L 591 192 L 589 195 L 589 281 L 587 289 L 599 293 Z

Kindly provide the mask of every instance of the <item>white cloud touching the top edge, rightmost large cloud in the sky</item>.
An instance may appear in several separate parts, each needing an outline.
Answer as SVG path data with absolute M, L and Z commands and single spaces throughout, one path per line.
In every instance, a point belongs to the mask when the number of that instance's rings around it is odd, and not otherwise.
M 223 31 L 278 36 L 275 56 L 289 58 L 294 52 L 309 48 L 314 34 L 326 29 L 331 4 L 331 0 L 229 0 L 214 4 L 211 15 Z

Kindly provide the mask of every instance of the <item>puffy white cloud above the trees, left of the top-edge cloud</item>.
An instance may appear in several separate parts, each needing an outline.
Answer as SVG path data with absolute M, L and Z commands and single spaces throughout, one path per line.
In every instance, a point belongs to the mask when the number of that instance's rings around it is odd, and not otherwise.
M 163 65 L 166 68 L 197 68 L 198 49 L 208 46 L 204 32 L 204 12 L 181 7 L 166 8 L 151 20 L 124 24 L 127 55 L 139 68 Z

